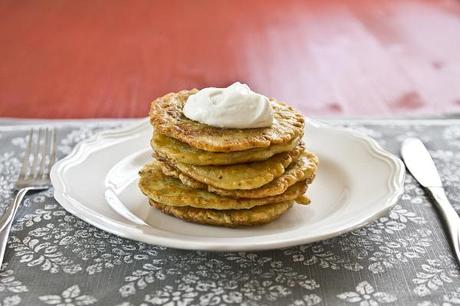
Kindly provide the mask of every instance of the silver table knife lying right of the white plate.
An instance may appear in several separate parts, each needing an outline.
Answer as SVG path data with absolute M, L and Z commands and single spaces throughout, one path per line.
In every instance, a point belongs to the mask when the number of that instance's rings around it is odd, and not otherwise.
M 446 223 L 457 261 L 460 263 L 460 218 L 447 199 L 441 178 L 431 159 L 430 153 L 420 139 L 408 138 L 404 140 L 402 144 L 401 155 L 407 169 L 409 169 L 415 179 L 433 196 L 435 204 Z

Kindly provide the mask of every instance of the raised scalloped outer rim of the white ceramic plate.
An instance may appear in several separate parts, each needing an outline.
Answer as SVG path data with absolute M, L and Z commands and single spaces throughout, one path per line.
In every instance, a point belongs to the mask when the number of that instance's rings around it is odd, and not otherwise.
M 405 166 L 403 162 L 394 156 L 392 153 L 384 150 L 374 139 L 369 136 L 348 128 L 330 126 L 322 122 L 308 119 L 309 125 L 315 127 L 321 127 L 324 129 L 331 129 L 338 133 L 349 134 L 358 139 L 362 144 L 365 145 L 370 155 L 384 161 L 392 170 L 392 175 L 388 177 L 387 187 L 389 189 L 388 197 L 385 201 L 382 201 L 381 209 L 367 216 L 361 216 L 359 220 L 353 222 L 353 224 L 343 225 L 337 227 L 335 230 L 330 231 L 323 235 L 316 235 L 314 237 L 294 237 L 292 239 L 278 241 L 278 242 L 251 242 L 247 245 L 229 245 L 227 243 L 216 243 L 209 242 L 202 239 L 178 240 L 177 238 L 162 237 L 162 236 L 149 236 L 149 239 L 145 238 L 145 234 L 142 229 L 136 229 L 126 223 L 109 219 L 104 216 L 99 216 L 98 213 L 89 212 L 87 207 L 79 203 L 78 201 L 66 196 L 66 185 L 64 179 L 65 169 L 69 166 L 78 164 L 85 159 L 91 148 L 94 145 L 99 144 L 104 139 L 109 138 L 122 138 L 130 136 L 138 131 L 142 131 L 146 124 L 149 124 L 149 119 L 141 119 L 139 123 L 129 124 L 128 126 L 111 129 L 107 131 L 99 132 L 92 137 L 78 143 L 72 152 L 59 160 L 51 169 L 50 177 L 54 187 L 54 197 L 56 201 L 69 213 L 82 219 L 83 221 L 102 229 L 106 232 L 115 234 L 117 236 L 145 242 L 148 244 L 157 244 L 165 247 L 172 247 L 178 249 L 190 249 L 190 250 L 207 250 L 207 251 L 241 251 L 241 250 L 268 250 L 277 248 L 292 247 L 301 244 L 312 243 L 320 240 L 325 240 L 339 236 L 341 234 L 359 229 L 377 218 L 386 214 L 398 201 L 404 192 L 404 178 L 405 178 Z M 158 231 L 161 232 L 161 231 Z M 232 238 L 224 238 L 231 240 Z M 223 240 L 223 239 L 222 239 Z

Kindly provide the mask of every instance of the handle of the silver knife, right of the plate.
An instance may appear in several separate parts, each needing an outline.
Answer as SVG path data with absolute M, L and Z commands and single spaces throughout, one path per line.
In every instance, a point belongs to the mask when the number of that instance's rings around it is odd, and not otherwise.
M 460 230 L 460 217 L 455 211 L 443 187 L 428 187 L 431 195 L 435 199 L 436 206 L 438 207 L 447 229 L 449 230 L 452 246 L 455 251 L 458 262 L 460 263 L 460 247 L 459 247 L 459 230 Z

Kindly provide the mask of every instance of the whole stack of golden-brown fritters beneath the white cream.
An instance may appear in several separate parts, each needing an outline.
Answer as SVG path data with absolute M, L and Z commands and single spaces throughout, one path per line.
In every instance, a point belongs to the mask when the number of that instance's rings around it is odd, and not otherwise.
M 270 127 L 217 128 L 183 114 L 196 89 L 152 102 L 154 160 L 140 171 L 139 186 L 164 213 L 228 227 L 268 223 L 304 196 L 318 159 L 304 149 L 304 119 L 270 99 Z

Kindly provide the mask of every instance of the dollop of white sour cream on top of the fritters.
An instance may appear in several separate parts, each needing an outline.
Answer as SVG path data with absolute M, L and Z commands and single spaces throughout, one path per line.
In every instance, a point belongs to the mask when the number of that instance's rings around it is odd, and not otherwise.
M 183 112 L 191 120 L 219 128 L 261 128 L 273 123 L 270 100 L 240 82 L 198 91 L 188 97 Z

